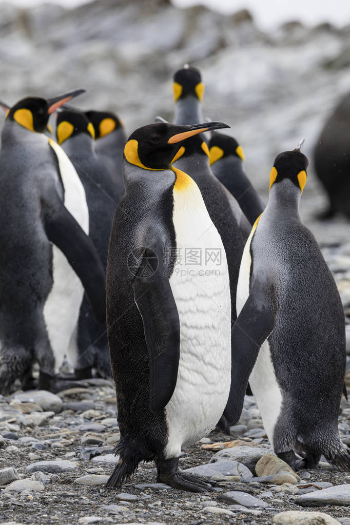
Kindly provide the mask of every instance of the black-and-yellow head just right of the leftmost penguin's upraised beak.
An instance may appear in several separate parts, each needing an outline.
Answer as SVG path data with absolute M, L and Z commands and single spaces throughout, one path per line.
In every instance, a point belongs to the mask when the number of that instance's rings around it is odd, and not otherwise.
M 65 108 L 57 114 L 56 136 L 59 144 L 80 133 L 95 138 L 95 130 L 85 113 Z

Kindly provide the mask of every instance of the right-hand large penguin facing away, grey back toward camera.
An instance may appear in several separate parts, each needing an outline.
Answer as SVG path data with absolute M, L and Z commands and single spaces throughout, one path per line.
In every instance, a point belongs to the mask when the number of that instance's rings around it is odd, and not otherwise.
M 249 383 L 275 454 L 313 468 L 323 454 L 350 468 L 337 418 L 345 374 L 341 299 L 319 246 L 299 215 L 307 159 L 300 146 L 280 153 L 270 174 L 267 207 L 242 257 L 232 349 L 240 345 Z M 228 405 L 238 413 L 248 373 L 232 366 Z M 241 395 L 240 395 L 241 394 Z M 295 453 L 303 456 L 296 460 Z

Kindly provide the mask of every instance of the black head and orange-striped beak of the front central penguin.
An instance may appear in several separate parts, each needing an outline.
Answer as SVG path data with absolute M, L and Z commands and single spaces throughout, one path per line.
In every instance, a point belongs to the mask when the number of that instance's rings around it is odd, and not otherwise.
M 223 122 L 192 125 L 149 124 L 134 131 L 125 144 L 124 157 L 135 166 L 147 170 L 166 170 L 179 158 L 180 144 L 211 129 L 228 128 Z M 203 142 L 203 141 L 200 141 Z

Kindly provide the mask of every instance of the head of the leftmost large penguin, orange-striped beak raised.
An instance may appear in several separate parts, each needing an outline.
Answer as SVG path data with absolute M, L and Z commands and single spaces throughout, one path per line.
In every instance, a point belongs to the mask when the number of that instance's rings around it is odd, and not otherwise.
M 44 133 L 50 114 L 56 111 L 65 102 L 83 93 L 84 89 L 77 89 L 60 95 L 58 97 L 43 99 L 39 97 L 27 97 L 19 100 L 9 109 L 6 120 L 12 120 L 30 131 Z

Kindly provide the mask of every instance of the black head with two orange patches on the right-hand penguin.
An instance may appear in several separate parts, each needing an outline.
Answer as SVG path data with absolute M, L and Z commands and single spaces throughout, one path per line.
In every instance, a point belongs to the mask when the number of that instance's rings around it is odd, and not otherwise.
M 300 149 L 293 151 L 283 151 L 274 160 L 270 173 L 270 190 L 273 184 L 278 184 L 285 178 L 289 178 L 292 183 L 303 192 L 306 183 L 306 169 L 309 161 L 301 153 Z

